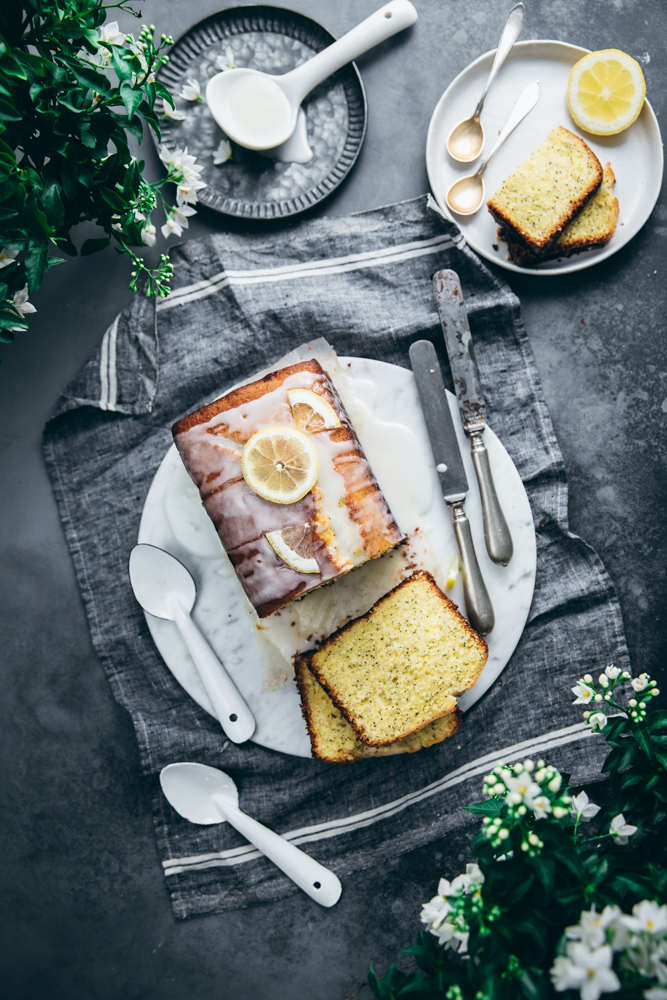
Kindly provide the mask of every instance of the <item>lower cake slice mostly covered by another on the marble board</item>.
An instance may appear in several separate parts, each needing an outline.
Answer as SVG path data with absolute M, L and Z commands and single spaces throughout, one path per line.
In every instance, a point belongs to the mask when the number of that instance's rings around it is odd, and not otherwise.
M 301 695 L 301 711 L 308 728 L 313 757 L 331 763 L 349 763 L 367 757 L 415 753 L 453 736 L 461 723 L 460 713 L 450 712 L 396 743 L 369 747 L 362 743 L 345 717 L 336 708 L 310 667 L 312 653 L 297 657 L 294 669 Z

